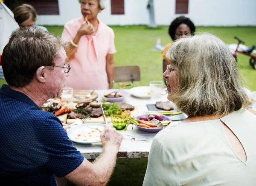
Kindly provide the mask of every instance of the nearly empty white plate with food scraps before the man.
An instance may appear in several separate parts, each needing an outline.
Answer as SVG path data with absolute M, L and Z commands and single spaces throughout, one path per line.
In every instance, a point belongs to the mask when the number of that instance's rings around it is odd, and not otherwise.
M 92 144 L 100 142 L 99 130 L 104 130 L 105 124 L 100 123 L 87 123 L 76 125 L 70 128 L 67 132 L 68 137 L 71 141 L 79 144 Z M 93 129 L 90 129 L 90 128 Z M 98 128 L 99 130 L 96 130 Z

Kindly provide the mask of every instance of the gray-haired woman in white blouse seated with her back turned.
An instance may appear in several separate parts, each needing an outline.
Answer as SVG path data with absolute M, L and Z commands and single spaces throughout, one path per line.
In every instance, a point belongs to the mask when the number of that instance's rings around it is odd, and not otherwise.
M 166 57 L 168 99 L 188 118 L 155 136 L 143 185 L 255 185 L 256 116 L 227 45 L 202 34 L 177 40 Z

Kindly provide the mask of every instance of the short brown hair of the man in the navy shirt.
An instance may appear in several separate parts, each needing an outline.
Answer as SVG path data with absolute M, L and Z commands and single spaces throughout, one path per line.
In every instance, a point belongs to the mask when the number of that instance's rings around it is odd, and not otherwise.
M 1 58 L 8 85 L 29 85 L 39 67 L 55 65 L 61 47 L 65 49 L 67 42 L 40 28 L 26 27 L 12 33 Z

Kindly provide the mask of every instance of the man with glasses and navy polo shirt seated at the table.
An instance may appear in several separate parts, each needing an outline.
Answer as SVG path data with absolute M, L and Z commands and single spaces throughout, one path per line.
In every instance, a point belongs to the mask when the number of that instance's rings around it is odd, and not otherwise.
M 113 172 L 122 135 L 111 123 L 102 131 L 102 155 L 90 163 L 61 121 L 40 109 L 62 94 L 71 69 L 65 48 L 53 34 L 24 28 L 3 49 L 8 85 L 0 89 L 0 178 L 9 185 L 57 185 L 55 176 L 76 185 L 106 185 Z

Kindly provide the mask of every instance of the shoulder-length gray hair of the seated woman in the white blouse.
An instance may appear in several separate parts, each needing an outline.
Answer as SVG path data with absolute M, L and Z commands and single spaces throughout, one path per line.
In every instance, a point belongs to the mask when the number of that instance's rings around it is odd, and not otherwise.
M 183 113 L 206 116 L 247 108 L 236 60 L 218 37 L 201 34 L 178 39 L 166 57 L 177 65 L 178 86 L 169 99 Z

